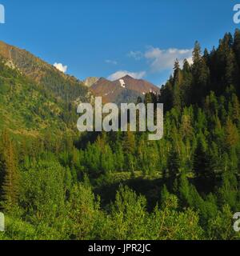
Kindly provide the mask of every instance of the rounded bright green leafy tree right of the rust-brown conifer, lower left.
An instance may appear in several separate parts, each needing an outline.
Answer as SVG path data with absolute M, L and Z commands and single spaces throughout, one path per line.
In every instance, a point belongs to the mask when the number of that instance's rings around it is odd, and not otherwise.
M 22 172 L 20 204 L 31 221 L 54 223 L 65 211 L 64 170 L 58 162 L 39 161 Z M 28 217 L 29 218 L 29 217 Z

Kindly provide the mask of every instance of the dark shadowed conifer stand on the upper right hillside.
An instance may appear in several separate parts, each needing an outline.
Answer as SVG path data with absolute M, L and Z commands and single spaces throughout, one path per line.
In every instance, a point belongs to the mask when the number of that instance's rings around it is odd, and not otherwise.
M 198 42 L 193 53 L 194 64 L 184 62 L 182 70 L 175 62 L 174 74 L 161 90 L 161 101 L 166 110 L 172 107 L 190 106 L 203 102 L 210 91 L 219 97 L 226 93 L 230 86 L 235 94 L 240 95 L 240 32 L 225 34 L 219 41 L 218 48 L 203 54 Z

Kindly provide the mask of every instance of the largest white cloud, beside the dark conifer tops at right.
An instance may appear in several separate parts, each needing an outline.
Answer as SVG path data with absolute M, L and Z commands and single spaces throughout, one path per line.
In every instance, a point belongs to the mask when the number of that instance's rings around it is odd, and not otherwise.
M 192 49 L 170 48 L 162 50 L 151 47 L 149 50 L 146 50 L 144 56 L 150 62 L 151 70 L 158 72 L 172 69 L 177 58 L 180 64 L 182 64 L 185 58 L 191 63 L 192 51 Z

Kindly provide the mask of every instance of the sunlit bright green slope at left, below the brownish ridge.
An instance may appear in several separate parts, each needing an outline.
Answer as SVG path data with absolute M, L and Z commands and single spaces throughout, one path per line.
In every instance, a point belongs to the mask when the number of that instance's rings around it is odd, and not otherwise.
M 0 130 L 24 137 L 73 133 L 74 103 L 66 103 L 0 58 Z

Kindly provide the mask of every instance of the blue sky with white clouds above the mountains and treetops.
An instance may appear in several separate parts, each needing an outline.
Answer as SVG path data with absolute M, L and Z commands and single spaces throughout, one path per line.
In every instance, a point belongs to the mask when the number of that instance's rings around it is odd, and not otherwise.
M 126 72 L 161 85 L 194 42 L 210 49 L 233 22 L 240 0 L 0 0 L 0 40 L 66 73 L 118 78 Z

